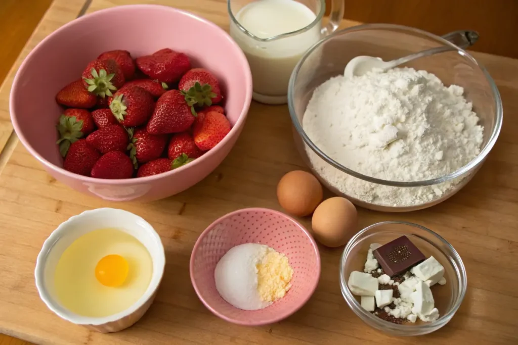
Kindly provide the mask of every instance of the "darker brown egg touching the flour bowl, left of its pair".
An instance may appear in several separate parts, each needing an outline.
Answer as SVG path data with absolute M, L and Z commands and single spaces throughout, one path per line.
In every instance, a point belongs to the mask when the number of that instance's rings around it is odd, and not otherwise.
M 286 212 L 294 216 L 307 216 L 322 201 L 323 191 L 318 179 L 302 170 L 282 176 L 277 185 L 277 199 Z

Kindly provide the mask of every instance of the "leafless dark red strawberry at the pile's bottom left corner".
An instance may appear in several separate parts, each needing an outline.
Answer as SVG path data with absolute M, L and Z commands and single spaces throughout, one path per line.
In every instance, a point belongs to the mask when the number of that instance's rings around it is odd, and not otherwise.
M 88 145 L 86 140 L 80 139 L 70 145 L 63 168 L 79 175 L 90 176 L 90 172 L 99 158 L 99 152 Z

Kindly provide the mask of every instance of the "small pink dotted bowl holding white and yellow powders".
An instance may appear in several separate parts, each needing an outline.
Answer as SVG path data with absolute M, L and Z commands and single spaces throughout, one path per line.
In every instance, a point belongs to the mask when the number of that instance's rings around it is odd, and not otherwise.
M 235 308 L 216 290 L 216 264 L 229 249 L 244 243 L 274 248 L 293 268 L 291 289 L 264 309 Z M 272 209 L 244 208 L 215 220 L 199 236 L 190 273 L 199 299 L 216 316 L 240 325 L 266 325 L 289 317 L 309 300 L 320 279 L 320 253 L 313 237 L 295 219 Z

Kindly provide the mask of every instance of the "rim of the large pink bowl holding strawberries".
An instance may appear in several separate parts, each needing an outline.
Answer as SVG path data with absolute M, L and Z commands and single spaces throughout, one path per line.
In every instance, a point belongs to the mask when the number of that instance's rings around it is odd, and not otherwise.
M 26 66 L 30 63 L 31 58 L 33 55 L 36 54 L 36 52 L 41 49 L 42 46 L 44 46 L 47 41 L 53 39 L 56 35 L 59 35 L 60 33 L 66 31 L 67 29 L 70 29 L 74 27 L 75 25 L 78 25 L 78 23 L 81 23 L 83 21 L 88 21 L 92 18 L 102 16 L 105 13 L 111 13 L 111 12 L 117 12 L 120 13 L 121 11 L 134 11 L 139 9 L 154 9 L 154 10 L 160 10 L 160 11 L 169 11 L 169 12 L 175 12 L 180 13 L 183 16 L 190 17 L 193 20 L 197 20 L 199 22 L 203 22 L 204 24 L 208 25 L 209 29 L 215 32 L 219 32 L 222 37 L 224 37 L 230 44 L 231 47 L 233 47 L 232 52 L 233 54 L 236 54 L 238 56 L 238 59 L 241 62 L 241 66 L 244 72 L 244 83 L 247 86 L 246 96 L 244 99 L 244 107 L 241 110 L 241 114 L 239 114 L 239 117 L 237 118 L 236 123 L 234 126 L 232 126 L 231 130 L 227 133 L 227 135 L 223 138 L 222 141 L 220 141 L 217 145 L 215 145 L 213 148 L 211 148 L 209 151 L 207 151 L 204 155 L 200 156 L 199 158 L 196 158 L 189 164 L 185 164 L 184 166 L 181 166 L 179 168 L 176 168 L 175 170 L 170 170 L 162 174 L 156 174 L 146 177 L 134 177 L 134 178 L 121 178 L 121 179 L 106 179 L 106 178 L 94 178 L 90 176 L 84 176 L 79 175 L 73 172 L 69 172 L 65 170 L 63 167 L 57 166 L 50 161 L 48 161 L 46 158 L 41 156 L 38 151 L 28 142 L 28 140 L 25 138 L 23 132 L 20 129 L 20 125 L 18 123 L 17 117 L 15 115 L 15 109 L 13 104 L 15 104 L 15 99 L 18 97 L 19 89 L 17 87 L 18 84 L 21 83 L 21 74 L 20 72 L 23 72 Z M 27 149 L 27 151 L 35 157 L 41 164 L 43 164 L 48 169 L 51 169 L 53 171 L 56 171 L 57 173 L 60 173 L 61 175 L 65 175 L 69 178 L 79 179 L 80 181 L 84 183 L 95 183 L 98 185 L 127 185 L 127 184 L 134 184 L 134 183 L 150 183 L 152 181 L 156 181 L 158 179 L 161 179 L 166 176 L 172 176 L 173 174 L 177 172 L 181 172 L 186 169 L 190 169 L 191 167 L 194 168 L 200 164 L 202 164 L 205 160 L 207 160 L 207 156 L 213 155 L 215 152 L 219 151 L 223 146 L 227 144 L 227 142 L 231 141 L 237 133 L 241 130 L 242 126 L 244 125 L 244 122 L 248 116 L 248 111 L 250 109 L 250 104 L 252 102 L 252 72 L 250 70 L 250 65 L 248 64 L 248 60 L 242 50 L 239 48 L 238 44 L 232 39 L 232 37 L 220 26 L 217 24 L 212 23 L 211 21 L 199 17 L 194 13 L 191 13 L 189 11 L 177 9 L 174 7 L 164 6 L 164 5 L 122 5 L 122 6 L 116 6 L 111 8 L 106 8 L 102 10 L 98 10 L 92 13 L 85 14 L 84 16 L 81 16 L 79 18 L 76 18 L 65 25 L 59 27 L 54 32 L 49 34 L 47 37 L 42 39 L 34 49 L 27 54 L 27 56 L 24 58 L 22 64 L 20 65 L 20 68 L 16 72 L 15 78 L 13 79 L 12 86 L 11 86 L 11 92 L 9 96 L 9 113 L 11 117 L 11 123 L 12 126 L 22 142 L 23 146 Z M 81 138 L 84 139 L 84 138 Z

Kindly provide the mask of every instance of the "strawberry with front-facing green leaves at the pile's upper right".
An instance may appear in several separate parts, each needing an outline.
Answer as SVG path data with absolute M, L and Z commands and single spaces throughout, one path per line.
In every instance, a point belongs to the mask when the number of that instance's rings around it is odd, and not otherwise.
M 205 68 L 193 68 L 183 74 L 178 88 L 185 95 L 189 105 L 211 106 L 221 101 L 220 83 Z

